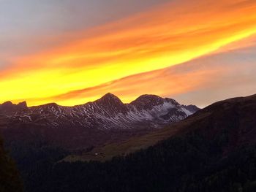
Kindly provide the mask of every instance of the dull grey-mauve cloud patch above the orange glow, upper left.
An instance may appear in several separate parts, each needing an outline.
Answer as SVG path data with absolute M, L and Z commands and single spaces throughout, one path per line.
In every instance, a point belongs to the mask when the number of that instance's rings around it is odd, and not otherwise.
M 74 39 L 72 31 L 100 26 L 166 1 L 1 0 L 0 52 L 17 56 L 60 46 Z

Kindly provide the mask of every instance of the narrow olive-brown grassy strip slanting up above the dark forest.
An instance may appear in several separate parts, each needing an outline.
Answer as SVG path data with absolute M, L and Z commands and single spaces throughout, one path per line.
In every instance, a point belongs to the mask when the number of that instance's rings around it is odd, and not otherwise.
M 110 143 L 103 147 L 96 147 L 89 153 L 84 153 L 83 155 L 69 155 L 64 158 L 64 161 L 107 161 L 114 156 L 127 155 L 137 150 L 155 145 L 157 142 L 174 135 L 184 133 L 184 131 L 187 131 L 187 126 L 192 125 L 197 122 L 197 120 L 205 118 L 207 115 L 208 113 L 192 115 L 180 123 L 173 123 L 171 126 L 151 132 L 142 137 L 133 137 L 121 143 Z M 98 155 L 95 155 L 95 153 Z

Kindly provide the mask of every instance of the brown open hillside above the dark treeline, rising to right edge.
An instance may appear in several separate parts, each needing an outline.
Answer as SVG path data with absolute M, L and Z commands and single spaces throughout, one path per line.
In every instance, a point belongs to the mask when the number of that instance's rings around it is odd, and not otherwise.
M 106 161 L 117 155 L 127 155 L 156 145 L 169 137 L 192 132 L 199 133 L 207 142 L 225 142 L 223 153 L 229 153 L 241 145 L 256 145 L 255 112 L 256 95 L 219 101 L 178 123 L 124 142 L 95 147 L 83 155 L 70 155 L 65 161 Z M 102 155 L 94 155 L 95 153 Z

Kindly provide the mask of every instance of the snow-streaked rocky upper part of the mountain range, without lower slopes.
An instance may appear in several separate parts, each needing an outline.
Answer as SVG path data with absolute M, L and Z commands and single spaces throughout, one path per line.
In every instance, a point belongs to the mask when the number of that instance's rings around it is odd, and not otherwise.
M 159 128 L 167 123 L 178 122 L 198 110 L 195 106 L 178 104 L 173 99 L 143 95 L 130 104 L 124 104 L 111 93 L 97 101 L 64 107 L 44 104 L 26 107 L 10 101 L 0 105 L 0 115 L 23 123 L 37 123 L 50 127 L 84 127 L 105 129 Z

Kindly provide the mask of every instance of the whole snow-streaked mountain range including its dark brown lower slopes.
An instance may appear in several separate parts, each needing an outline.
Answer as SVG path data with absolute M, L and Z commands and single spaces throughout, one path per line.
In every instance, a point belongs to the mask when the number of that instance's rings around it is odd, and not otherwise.
M 61 147 L 84 148 L 146 134 L 197 110 L 154 95 L 124 104 L 108 93 L 97 101 L 74 107 L 55 103 L 27 107 L 26 102 L 16 105 L 8 101 L 0 105 L 0 131 L 7 141 L 41 140 Z

